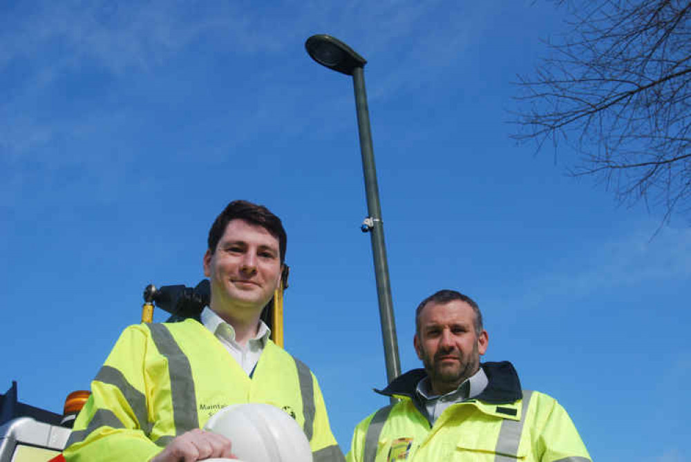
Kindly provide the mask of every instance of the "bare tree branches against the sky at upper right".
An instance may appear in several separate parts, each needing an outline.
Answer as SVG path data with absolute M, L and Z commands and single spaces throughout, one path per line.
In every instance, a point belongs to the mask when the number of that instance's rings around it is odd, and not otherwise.
M 691 1 L 553 0 L 568 31 L 515 83 L 518 142 L 578 153 L 621 203 L 691 215 Z M 576 137 L 569 135 L 575 134 Z

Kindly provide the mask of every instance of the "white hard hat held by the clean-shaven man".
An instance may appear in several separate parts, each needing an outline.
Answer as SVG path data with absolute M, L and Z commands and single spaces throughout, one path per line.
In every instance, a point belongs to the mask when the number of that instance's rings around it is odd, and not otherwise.
M 312 462 L 310 442 L 300 425 L 270 404 L 229 405 L 211 416 L 204 430 L 229 439 L 233 454 L 245 462 Z

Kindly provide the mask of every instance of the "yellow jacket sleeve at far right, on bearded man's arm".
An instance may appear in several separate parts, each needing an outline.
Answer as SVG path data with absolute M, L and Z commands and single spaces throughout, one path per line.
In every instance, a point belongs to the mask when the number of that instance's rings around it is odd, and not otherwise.
M 591 462 L 576 425 L 566 410 L 553 398 L 538 394 L 536 431 L 533 447 L 537 448 L 540 462 Z

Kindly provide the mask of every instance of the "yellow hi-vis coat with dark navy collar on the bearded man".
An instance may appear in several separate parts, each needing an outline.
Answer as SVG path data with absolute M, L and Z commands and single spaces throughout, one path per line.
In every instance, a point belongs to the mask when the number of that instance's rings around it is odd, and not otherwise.
M 489 384 L 447 407 L 430 425 L 415 394 L 426 376 L 415 369 L 379 393 L 401 401 L 355 428 L 348 462 L 590 462 L 574 423 L 556 400 L 521 391 L 509 362 L 482 365 Z

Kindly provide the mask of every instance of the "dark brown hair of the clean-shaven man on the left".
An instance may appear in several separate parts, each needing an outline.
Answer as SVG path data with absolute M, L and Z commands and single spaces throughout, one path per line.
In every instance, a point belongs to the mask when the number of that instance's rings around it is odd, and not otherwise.
M 225 229 L 231 220 L 245 220 L 269 231 L 274 238 L 278 239 L 278 251 L 281 253 L 281 264 L 283 264 L 288 238 L 285 234 L 285 229 L 283 229 L 281 218 L 278 218 L 265 206 L 253 204 L 247 200 L 234 200 L 216 217 L 214 224 L 209 229 L 209 238 L 207 239 L 207 245 L 211 253 L 216 251 L 218 241 L 225 233 Z

